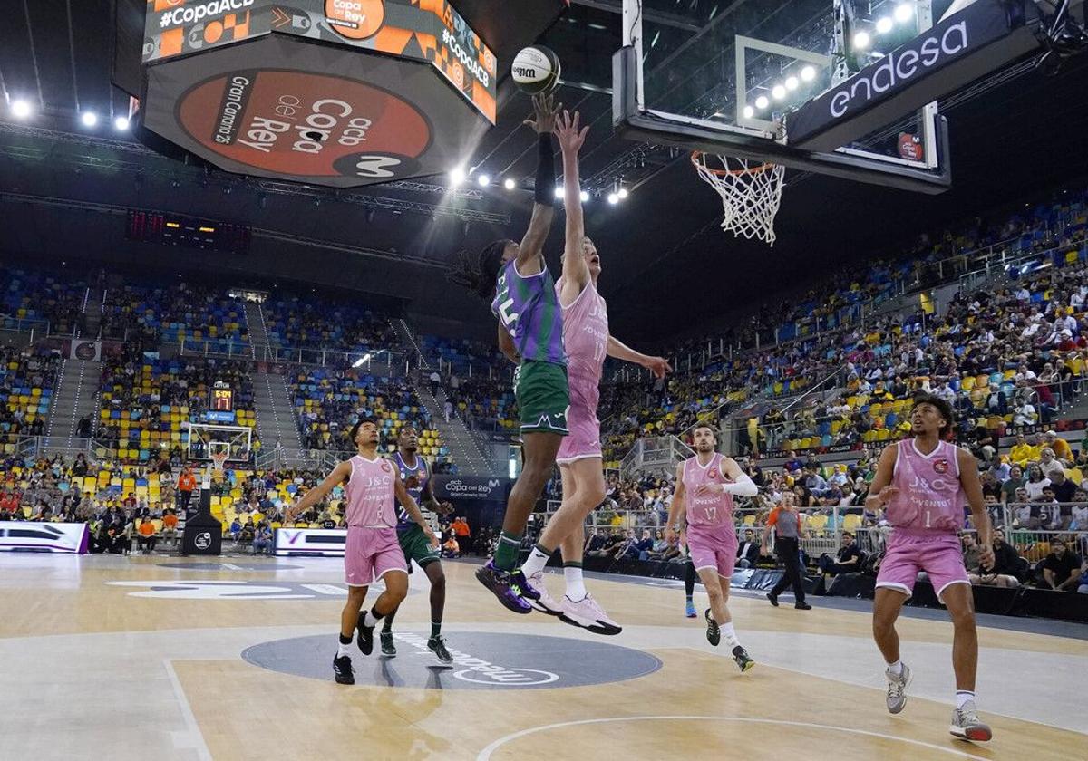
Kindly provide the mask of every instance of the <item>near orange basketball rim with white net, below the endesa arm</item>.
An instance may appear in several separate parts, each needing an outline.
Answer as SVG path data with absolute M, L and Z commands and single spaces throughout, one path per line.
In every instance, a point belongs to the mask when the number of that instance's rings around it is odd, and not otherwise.
M 775 245 L 775 215 L 782 201 L 784 166 L 702 151 L 692 151 L 691 163 L 721 196 L 726 213 L 721 229 Z

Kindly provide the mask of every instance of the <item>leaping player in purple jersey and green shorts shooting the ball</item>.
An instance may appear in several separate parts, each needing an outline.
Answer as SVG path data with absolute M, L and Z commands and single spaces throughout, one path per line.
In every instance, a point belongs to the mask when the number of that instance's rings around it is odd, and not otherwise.
M 555 127 L 565 150 L 571 147 L 577 153 L 589 129 L 578 129 L 577 113 L 572 122 L 564 113 L 557 124 L 556 110 L 547 97 L 533 98 L 533 107 L 536 117 L 530 124 L 539 135 L 540 165 L 536 202 L 529 230 L 520 245 L 512 240 L 496 240 L 474 262 L 462 257 L 460 265 L 449 275 L 455 283 L 468 287 L 478 296 L 491 298 L 492 294 L 495 295 L 492 312 L 499 321 L 498 346 L 518 365 L 514 392 L 521 416 L 524 464 L 510 491 L 495 557 L 477 571 L 480 583 L 516 613 L 531 613 L 533 609 L 529 600 L 536 599 L 536 592 L 527 584 L 518 567 L 518 551 L 529 514 L 552 475 L 559 444 L 567 435 L 567 409 L 570 407 L 567 355 L 562 348 L 562 314 L 543 254 L 544 240 L 554 215 L 552 204 L 555 202 L 555 159 L 551 133 Z M 577 240 L 580 249 L 582 205 L 577 177 L 572 179 L 574 182 L 565 183 L 567 240 Z M 577 227 L 577 238 L 572 238 L 572 225 Z M 565 275 L 573 266 L 574 259 L 565 258 Z

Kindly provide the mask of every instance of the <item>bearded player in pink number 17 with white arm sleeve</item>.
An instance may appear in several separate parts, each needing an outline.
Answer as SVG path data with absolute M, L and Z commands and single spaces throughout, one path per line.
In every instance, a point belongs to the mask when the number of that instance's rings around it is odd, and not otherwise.
M 757 489 L 735 460 L 714 451 L 710 426 L 697 426 L 692 438 L 695 457 L 677 466 L 677 490 L 669 508 L 668 537 L 671 541 L 687 517 L 688 551 L 710 597 L 710 607 L 705 613 L 706 638 L 717 647 L 721 635 L 726 635 L 726 645 L 732 648 L 733 660 L 744 672 L 754 666 L 755 661 L 737 638 L 729 613 L 729 584 L 737 564 L 738 546 L 733 495 L 754 497 Z

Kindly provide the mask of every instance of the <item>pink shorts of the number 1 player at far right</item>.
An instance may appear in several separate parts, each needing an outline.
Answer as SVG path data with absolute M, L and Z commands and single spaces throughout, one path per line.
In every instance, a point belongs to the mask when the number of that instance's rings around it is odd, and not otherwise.
M 918 571 L 925 571 L 937 599 L 952 584 L 969 584 L 963 566 L 963 548 L 955 534 L 914 534 L 897 528 L 888 539 L 888 552 L 877 573 L 877 588 L 914 594 Z

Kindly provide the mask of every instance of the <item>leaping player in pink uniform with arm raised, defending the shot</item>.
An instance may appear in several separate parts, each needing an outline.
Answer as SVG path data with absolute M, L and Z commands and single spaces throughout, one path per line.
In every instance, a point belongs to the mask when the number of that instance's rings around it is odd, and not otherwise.
M 562 175 L 565 183 L 578 177 L 578 154 L 566 149 Z M 593 241 L 583 237 L 577 253 L 565 257 L 565 264 L 567 258 L 573 259 L 570 274 L 565 272 L 555 286 L 562 310 L 562 344 L 570 382 L 570 412 L 567 414 L 570 435 L 562 440 L 556 457 L 562 477 L 562 503 L 548 520 L 521 572 L 540 596 L 532 603 L 534 608 L 595 634 L 613 635 L 622 629 L 585 591 L 582 579 L 585 516 L 605 498 L 601 423 L 597 421 L 601 376 L 606 355 L 640 364 L 657 377 L 664 377 L 671 367 L 664 358 L 639 353 L 609 335 L 607 304 L 597 291 L 601 254 Z M 561 603 L 552 598 L 544 585 L 544 566 L 559 547 L 567 582 Z

